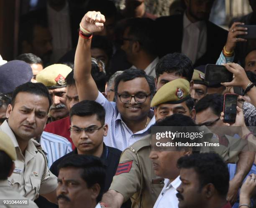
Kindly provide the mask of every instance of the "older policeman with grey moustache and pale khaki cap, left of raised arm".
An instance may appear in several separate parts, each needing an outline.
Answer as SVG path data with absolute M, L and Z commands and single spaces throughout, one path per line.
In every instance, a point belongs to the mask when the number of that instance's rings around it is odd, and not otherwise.
M 49 111 L 51 121 L 62 119 L 69 114 L 66 106 L 67 84 L 65 79 L 71 71 L 72 68 L 64 64 L 53 64 L 44 68 L 36 76 L 36 81 L 43 83 L 48 88 L 53 100 Z

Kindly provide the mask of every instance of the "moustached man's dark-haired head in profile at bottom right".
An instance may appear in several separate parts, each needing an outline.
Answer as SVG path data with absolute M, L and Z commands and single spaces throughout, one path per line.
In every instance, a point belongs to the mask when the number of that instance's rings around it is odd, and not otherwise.
M 179 158 L 177 167 L 181 180 L 177 188 L 179 208 L 231 208 L 226 200 L 228 167 L 219 155 L 186 155 Z

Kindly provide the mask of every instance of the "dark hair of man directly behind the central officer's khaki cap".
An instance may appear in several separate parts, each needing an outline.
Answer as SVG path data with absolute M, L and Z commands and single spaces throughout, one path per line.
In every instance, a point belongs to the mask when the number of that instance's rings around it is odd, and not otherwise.
M 194 68 L 192 61 L 186 55 L 182 53 L 169 53 L 156 64 L 156 78 L 158 79 L 164 72 L 184 76 L 190 82 Z

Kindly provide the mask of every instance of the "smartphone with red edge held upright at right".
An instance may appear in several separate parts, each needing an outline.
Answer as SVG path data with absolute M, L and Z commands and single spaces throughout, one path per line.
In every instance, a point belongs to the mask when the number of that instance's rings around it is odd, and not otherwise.
M 224 95 L 224 120 L 223 122 L 233 124 L 236 122 L 237 94 Z

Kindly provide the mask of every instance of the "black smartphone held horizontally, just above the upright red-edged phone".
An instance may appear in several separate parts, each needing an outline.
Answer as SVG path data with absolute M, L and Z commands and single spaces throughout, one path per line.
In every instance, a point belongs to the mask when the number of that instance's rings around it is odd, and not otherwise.
M 225 66 L 207 64 L 205 68 L 205 81 L 212 82 L 230 82 L 233 79 L 233 74 L 226 69 Z

